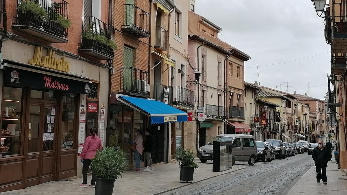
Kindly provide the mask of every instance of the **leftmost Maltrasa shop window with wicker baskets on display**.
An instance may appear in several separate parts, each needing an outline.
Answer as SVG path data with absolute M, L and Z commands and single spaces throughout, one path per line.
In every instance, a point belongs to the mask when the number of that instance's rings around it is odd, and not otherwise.
M 21 153 L 21 119 L 22 89 L 4 87 L 1 104 L 0 158 L 6 155 Z

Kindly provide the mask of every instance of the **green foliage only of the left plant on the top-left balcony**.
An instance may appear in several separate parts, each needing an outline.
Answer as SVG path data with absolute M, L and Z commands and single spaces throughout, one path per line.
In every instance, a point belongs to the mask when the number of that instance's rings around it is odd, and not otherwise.
M 18 7 L 23 14 L 32 13 L 35 18 L 40 18 L 41 20 L 44 20 L 47 16 L 46 9 L 36 1 L 23 1 Z

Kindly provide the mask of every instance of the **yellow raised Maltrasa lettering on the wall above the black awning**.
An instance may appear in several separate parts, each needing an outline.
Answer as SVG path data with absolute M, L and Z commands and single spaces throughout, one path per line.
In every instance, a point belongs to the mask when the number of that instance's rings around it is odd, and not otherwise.
M 35 46 L 35 52 L 32 59 L 28 61 L 30 65 L 41 66 L 62 72 L 70 71 L 70 62 L 65 61 L 65 57 L 56 58 L 56 51 L 47 50 L 46 56 L 42 56 L 42 46 Z M 41 57 L 42 56 L 42 57 Z

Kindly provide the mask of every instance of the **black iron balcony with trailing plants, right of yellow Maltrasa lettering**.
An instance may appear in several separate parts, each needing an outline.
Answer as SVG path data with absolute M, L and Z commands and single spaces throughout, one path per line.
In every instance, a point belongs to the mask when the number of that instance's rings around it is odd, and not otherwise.
M 83 29 L 78 52 L 85 53 L 100 60 L 113 60 L 115 43 L 115 28 L 98 18 L 88 16 L 82 18 Z

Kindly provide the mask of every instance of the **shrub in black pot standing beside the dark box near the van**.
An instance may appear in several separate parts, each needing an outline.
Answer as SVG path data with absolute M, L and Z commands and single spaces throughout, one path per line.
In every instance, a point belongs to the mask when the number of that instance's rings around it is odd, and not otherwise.
M 179 166 L 181 168 L 180 182 L 193 182 L 194 169 L 197 170 L 197 168 L 199 167 L 194 161 L 193 152 L 187 149 L 178 149 L 175 154 L 175 159 L 179 162 Z

